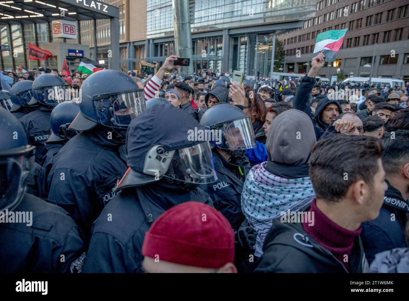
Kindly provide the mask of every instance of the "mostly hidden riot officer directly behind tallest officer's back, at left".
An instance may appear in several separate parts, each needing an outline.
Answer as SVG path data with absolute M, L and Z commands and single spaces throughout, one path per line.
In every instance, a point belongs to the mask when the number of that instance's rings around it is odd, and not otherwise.
M 61 102 L 51 112 L 51 134 L 45 141 L 47 154 L 43 157 L 41 168 L 37 175 L 38 196 L 48 197 L 47 175 L 51 170 L 52 160 L 58 151 L 76 134 L 78 131 L 68 129 L 72 120 L 80 112 L 79 104 L 75 102 Z

